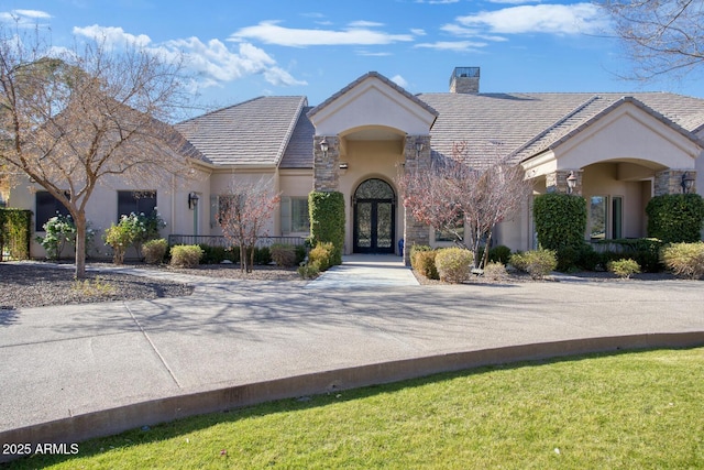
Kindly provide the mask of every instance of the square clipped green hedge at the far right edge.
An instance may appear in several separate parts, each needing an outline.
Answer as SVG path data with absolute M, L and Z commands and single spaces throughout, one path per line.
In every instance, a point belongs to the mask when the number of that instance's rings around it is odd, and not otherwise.
M 704 199 L 698 194 L 656 196 L 646 207 L 648 237 L 666 243 L 695 242 L 702 239 Z

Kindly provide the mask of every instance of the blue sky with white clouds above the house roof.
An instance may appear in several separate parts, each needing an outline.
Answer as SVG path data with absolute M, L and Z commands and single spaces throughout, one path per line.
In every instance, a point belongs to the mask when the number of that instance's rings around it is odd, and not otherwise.
M 182 51 L 208 106 L 262 95 L 305 95 L 315 106 L 370 70 L 413 94 L 443 92 L 455 66 L 480 66 L 483 92 L 704 97 L 694 76 L 646 85 L 619 79 L 629 64 L 590 2 L 6 0 L 0 21 L 48 28 L 57 46 L 105 36 Z

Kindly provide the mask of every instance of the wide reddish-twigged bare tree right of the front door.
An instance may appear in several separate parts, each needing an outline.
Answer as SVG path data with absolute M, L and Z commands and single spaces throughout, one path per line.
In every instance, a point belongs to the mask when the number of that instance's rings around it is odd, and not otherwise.
M 499 155 L 484 166 L 471 166 L 468 156 L 466 145 L 455 144 L 451 159 L 433 161 L 429 171 L 405 173 L 398 183 L 406 210 L 419 222 L 452 233 L 455 243 L 474 253 L 475 266 L 483 267 L 488 250 L 480 259 L 480 249 L 491 245 L 496 225 L 519 210 L 531 184 L 519 165 Z

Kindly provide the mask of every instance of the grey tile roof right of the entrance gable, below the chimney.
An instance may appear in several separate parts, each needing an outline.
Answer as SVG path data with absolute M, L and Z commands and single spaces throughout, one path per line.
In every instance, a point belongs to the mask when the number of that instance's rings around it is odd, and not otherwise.
M 634 103 L 684 133 L 704 125 L 704 99 L 674 94 L 632 94 Z M 624 100 L 624 94 L 424 94 L 439 111 L 430 134 L 436 155 L 466 143 L 476 165 L 498 157 L 518 162 L 572 135 Z M 693 136 L 693 135 L 692 135 Z

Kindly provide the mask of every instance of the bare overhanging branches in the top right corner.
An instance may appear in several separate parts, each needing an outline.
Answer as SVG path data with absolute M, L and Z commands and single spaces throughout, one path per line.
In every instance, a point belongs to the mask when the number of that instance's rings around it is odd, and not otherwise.
M 601 0 L 635 64 L 632 77 L 685 74 L 704 62 L 703 0 Z

